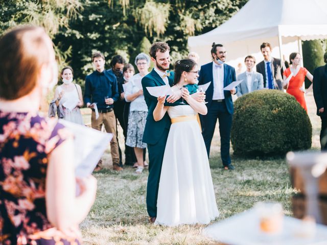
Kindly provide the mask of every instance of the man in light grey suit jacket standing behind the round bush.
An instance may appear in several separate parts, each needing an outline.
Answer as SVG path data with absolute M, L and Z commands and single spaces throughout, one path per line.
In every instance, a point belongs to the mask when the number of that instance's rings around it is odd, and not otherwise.
M 245 57 L 246 71 L 241 73 L 237 80 L 243 80 L 237 86 L 237 96 L 241 97 L 246 93 L 250 93 L 254 90 L 259 90 L 264 88 L 264 78 L 259 72 L 253 71 L 255 65 L 255 58 L 251 55 Z

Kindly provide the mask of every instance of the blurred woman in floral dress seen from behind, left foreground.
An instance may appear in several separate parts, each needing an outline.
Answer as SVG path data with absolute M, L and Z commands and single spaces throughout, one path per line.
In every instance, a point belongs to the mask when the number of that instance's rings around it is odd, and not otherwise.
M 58 81 L 52 45 L 32 26 L 0 38 L 0 244 L 80 244 L 95 201 L 95 178 L 76 184 L 72 134 L 38 115 Z

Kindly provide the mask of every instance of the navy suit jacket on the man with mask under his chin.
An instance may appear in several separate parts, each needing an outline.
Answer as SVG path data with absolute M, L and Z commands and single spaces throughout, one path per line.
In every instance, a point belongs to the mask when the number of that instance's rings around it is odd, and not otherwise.
M 208 109 L 211 107 L 211 103 L 213 102 L 213 95 L 214 95 L 213 63 L 214 62 L 210 62 L 205 65 L 202 65 L 199 73 L 199 85 L 211 82 L 208 89 L 205 91 L 205 101 L 207 102 L 206 107 Z M 226 87 L 231 82 L 236 81 L 236 73 L 234 67 L 227 64 L 223 64 L 223 65 L 224 65 L 224 87 Z M 229 114 L 233 114 L 234 106 L 231 99 L 230 91 L 224 90 L 224 96 L 225 96 L 227 111 Z

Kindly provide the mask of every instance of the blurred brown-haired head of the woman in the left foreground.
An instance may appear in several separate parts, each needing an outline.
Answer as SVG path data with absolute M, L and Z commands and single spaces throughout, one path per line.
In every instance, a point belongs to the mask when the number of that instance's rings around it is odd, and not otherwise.
M 29 94 L 42 65 L 50 61 L 43 28 L 23 26 L 0 37 L 0 97 L 15 100 Z

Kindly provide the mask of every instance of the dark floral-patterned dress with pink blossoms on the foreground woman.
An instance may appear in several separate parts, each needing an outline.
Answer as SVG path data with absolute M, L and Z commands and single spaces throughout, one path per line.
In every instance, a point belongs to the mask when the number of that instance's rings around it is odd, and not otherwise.
M 55 118 L 0 111 L 0 244 L 78 244 L 38 235 L 58 234 L 46 216 L 45 177 L 49 154 L 69 137 Z

